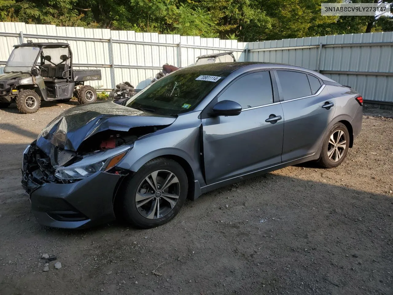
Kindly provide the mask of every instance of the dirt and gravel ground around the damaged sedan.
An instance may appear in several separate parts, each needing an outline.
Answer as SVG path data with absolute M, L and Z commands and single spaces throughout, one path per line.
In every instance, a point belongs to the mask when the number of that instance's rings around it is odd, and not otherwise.
M 0 110 L 1 295 L 393 294 L 393 111 L 365 109 L 338 168 L 227 186 L 155 229 L 41 227 L 20 186 L 22 151 L 72 106 Z M 44 253 L 57 257 L 46 272 Z

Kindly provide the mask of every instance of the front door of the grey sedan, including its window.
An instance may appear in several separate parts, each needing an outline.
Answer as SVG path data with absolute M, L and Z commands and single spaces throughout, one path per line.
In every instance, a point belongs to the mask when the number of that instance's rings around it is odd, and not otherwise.
M 245 74 L 215 98 L 236 101 L 242 112 L 202 119 L 207 184 L 281 163 L 284 117 L 274 99 L 269 71 Z

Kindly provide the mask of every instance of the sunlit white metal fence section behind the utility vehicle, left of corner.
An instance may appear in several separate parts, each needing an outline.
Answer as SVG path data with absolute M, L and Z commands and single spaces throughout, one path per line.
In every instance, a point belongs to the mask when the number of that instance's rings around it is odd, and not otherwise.
M 184 67 L 195 63 L 199 55 L 213 52 L 233 51 L 238 61 L 244 61 L 246 46 L 217 38 L 0 22 L 0 66 L 6 63 L 14 44 L 27 40 L 68 42 L 75 68 L 101 70 L 101 81 L 89 82 L 101 90 L 113 89 L 122 81 L 141 89 L 165 63 Z

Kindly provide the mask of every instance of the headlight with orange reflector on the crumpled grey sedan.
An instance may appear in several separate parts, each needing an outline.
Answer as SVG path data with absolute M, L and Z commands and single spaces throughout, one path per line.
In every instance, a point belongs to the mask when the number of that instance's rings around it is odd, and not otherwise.
M 82 160 L 56 169 L 55 176 L 61 180 L 84 179 L 97 171 L 108 171 L 127 154 L 132 146 L 120 146 L 106 151 L 85 155 Z

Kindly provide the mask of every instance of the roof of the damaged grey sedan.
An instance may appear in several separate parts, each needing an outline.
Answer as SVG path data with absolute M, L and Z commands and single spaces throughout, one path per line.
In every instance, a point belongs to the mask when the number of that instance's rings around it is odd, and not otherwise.
M 195 65 L 195 66 L 187 66 L 185 68 L 180 69 L 183 70 L 196 70 L 196 71 L 210 71 L 210 72 L 221 72 L 221 73 L 231 73 L 235 70 L 242 68 L 242 70 L 256 70 L 256 69 L 286 69 L 286 70 L 299 70 L 303 72 L 309 72 L 322 80 L 335 82 L 334 80 L 323 76 L 322 74 L 310 70 L 308 68 L 303 68 L 301 66 L 293 66 L 285 63 L 266 63 L 266 62 L 257 62 L 257 61 L 236 61 L 230 63 L 208 63 L 204 65 Z

